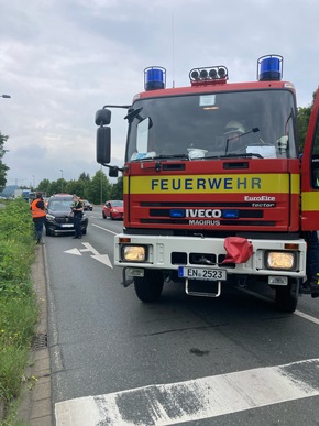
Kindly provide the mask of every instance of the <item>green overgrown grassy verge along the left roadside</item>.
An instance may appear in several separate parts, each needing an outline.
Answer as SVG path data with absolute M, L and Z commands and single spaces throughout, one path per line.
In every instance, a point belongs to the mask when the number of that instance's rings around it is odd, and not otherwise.
M 38 313 L 31 282 L 34 237 L 25 200 L 0 209 L 0 400 L 7 403 L 19 396 Z

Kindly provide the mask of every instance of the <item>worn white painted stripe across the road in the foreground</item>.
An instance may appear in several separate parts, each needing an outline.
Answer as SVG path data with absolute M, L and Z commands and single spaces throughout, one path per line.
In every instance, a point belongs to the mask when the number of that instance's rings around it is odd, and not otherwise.
M 319 359 L 55 404 L 56 426 L 176 425 L 319 395 Z

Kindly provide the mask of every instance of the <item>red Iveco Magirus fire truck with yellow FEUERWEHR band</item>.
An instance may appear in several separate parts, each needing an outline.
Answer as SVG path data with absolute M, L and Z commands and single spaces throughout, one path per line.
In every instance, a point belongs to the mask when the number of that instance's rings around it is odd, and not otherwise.
M 165 68 L 150 67 L 132 105 L 97 111 L 97 162 L 123 173 L 114 264 L 141 301 L 157 301 L 166 282 L 207 297 L 266 283 L 280 310 L 296 309 L 304 236 L 319 223 L 319 96 L 300 155 L 295 88 L 282 74 L 283 57 L 267 55 L 256 81 L 229 83 L 220 65 L 166 88 Z M 109 165 L 110 108 L 128 110 L 122 168 Z

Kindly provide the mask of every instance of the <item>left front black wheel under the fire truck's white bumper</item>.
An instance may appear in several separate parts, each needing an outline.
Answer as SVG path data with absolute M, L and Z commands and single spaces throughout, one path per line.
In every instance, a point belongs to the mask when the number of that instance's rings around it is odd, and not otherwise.
M 144 271 L 144 276 L 134 277 L 136 296 L 142 302 L 156 302 L 161 297 L 164 276 L 161 271 Z

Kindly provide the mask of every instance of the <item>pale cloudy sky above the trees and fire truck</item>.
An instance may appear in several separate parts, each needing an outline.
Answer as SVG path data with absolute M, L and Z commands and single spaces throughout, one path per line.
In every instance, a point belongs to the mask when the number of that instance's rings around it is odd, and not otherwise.
M 299 107 L 319 84 L 318 0 L 0 0 L 0 131 L 7 184 L 91 177 L 96 110 L 129 105 L 143 70 L 188 85 L 197 66 L 256 79 L 260 56 L 284 56 Z M 112 163 L 124 156 L 125 110 L 112 113 Z M 103 170 L 108 173 L 107 170 Z

